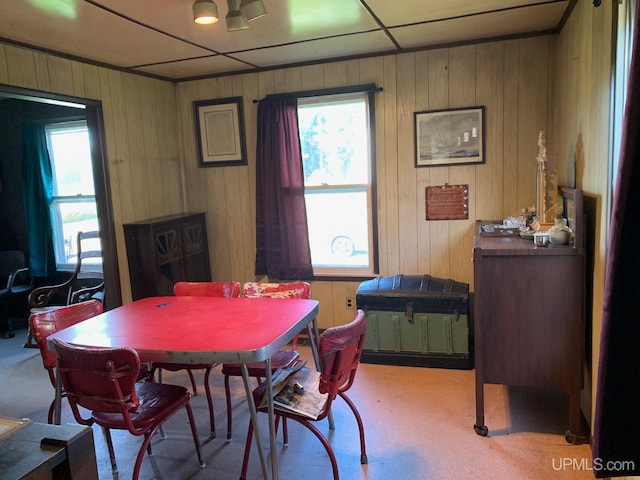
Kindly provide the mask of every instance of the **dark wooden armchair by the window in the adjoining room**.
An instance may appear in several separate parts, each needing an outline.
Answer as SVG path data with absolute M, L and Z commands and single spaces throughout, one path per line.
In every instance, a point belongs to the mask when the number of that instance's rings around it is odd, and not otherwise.
M 31 308 L 71 305 L 90 299 L 104 303 L 104 275 L 90 260 L 102 258 L 99 241 L 100 232 L 78 232 L 75 269 L 62 283 L 33 289 L 29 294 Z

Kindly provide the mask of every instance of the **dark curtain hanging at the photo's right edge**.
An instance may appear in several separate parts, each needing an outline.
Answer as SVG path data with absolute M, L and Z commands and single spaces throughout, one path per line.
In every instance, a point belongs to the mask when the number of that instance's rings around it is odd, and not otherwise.
M 597 478 L 640 475 L 640 58 L 636 0 L 607 257 L 593 432 Z

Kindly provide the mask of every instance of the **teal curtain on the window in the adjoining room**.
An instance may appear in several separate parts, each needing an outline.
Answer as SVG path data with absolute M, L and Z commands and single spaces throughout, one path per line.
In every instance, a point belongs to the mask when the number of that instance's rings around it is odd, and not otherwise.
M 51 162 L 44 125 L 25 125 L 22 128 L 22 197 L 33 277 L 56 272 L 49 215 L 52 196 Z

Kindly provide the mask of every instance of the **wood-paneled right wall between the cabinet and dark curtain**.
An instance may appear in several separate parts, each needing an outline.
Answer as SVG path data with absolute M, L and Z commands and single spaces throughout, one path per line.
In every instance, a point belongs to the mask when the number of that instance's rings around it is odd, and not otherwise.
M 605 261 L 611 208 L 610 109 L 612 88 L 613 4 L 576 4 L 569 21 L 554 43 L 553 137 L 551 151 L 559 159 L 559 178 L 570 181 L 575 166 L 576 187 L 583 190 L 589 210 L 590 240 L 587 282 L 587 338 L 583 411 L 593 416 Z M 621 7 L 622 8 L 622 7 Z

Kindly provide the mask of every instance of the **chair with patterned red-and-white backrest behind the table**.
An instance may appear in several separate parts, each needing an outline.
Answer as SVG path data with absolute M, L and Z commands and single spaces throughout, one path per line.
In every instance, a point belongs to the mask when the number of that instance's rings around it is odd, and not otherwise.
M 242 286 L 242 296 L 245 298 L 309 298 L 311 287 L 307 282 L 284 282 L 284 283 L 268 283 L 268 282 L 246 282 Z M 283 349 L 278 351 L 271 357 L 271 371 L 275 372 L 278 368 L 290 367 L 300 357 L 300 353 L 296 351 L 298 337 L 294 337 L 291 349 Z M 255 377 L 258 384 L 262 382 L 264 376 L 264 363 L 247 364 L 249 376 Z M 240 364 L 223 363 L 222 374 L 224 375 L 224 391 L 227 398 L 227 441 L 231 440 L 232 431 L 232 414 L 231 414 L 231 389 L 229 387 L 229 377 L 241 377 L 242 371 Z M 286 439 L 286 423 L 283 424 L 284 435 Z M 285 440 L 286 441 L 286 440 Z

